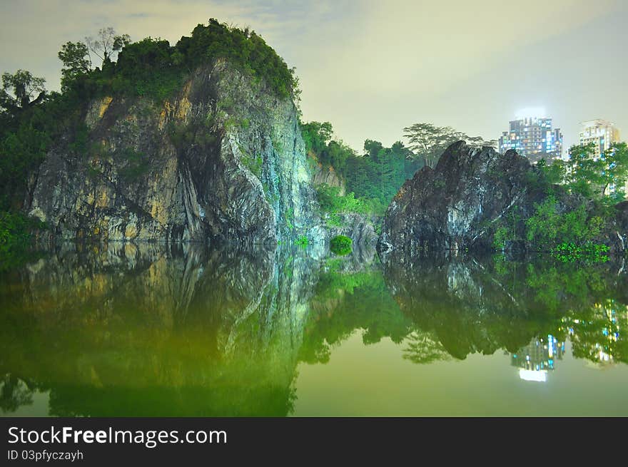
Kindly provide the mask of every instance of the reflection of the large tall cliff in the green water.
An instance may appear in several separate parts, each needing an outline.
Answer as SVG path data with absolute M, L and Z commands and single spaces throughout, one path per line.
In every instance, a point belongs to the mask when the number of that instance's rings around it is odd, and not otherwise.
M 0 374 L 50 389 L 58 415 L 285 415 L 309 261 L 186 245 L 60 250 L 1 282 Z

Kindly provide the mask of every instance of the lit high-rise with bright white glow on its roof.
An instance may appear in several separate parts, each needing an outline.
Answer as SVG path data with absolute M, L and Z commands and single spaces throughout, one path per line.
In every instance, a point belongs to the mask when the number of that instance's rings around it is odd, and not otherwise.
M 510 121 L 510 130 L 502 133 L 500 153 L 514 149 L 532 162 L 542 158 L 562 157 L 562 133 L 552 128 L 551 118 L 525 117 Z

